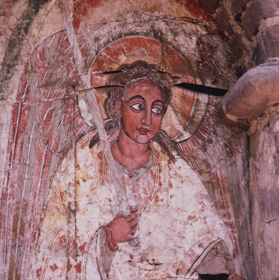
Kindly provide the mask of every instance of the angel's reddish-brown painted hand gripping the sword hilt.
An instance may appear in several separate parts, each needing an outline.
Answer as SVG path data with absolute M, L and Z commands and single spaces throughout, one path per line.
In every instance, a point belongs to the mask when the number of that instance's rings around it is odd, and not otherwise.
M 130 241 L 135 238 L 138 230 L 136 212 L 137 208 L 131 207 L 132 214 L 124 217 L 123 213 L 117 214 L 116 218 L 109 223 L 111 229 L 111 242 L 117 246 L 119 242 Z

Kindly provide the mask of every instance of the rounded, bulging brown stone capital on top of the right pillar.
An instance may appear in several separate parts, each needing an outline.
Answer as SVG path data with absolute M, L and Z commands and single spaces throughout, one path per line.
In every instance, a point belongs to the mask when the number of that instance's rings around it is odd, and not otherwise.
M 278 65 L 279 59 L 270 59 L 250 69 L 237 81 L 226 93 L 219 109 L 222 122 L 246 124 L 261 116 L 268 106 L 279 102 Z

